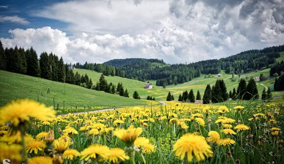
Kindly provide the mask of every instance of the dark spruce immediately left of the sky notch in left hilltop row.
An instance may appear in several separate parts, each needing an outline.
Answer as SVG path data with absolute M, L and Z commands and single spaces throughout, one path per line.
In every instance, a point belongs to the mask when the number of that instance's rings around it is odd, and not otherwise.
M 35 77 L 39 76 L 38 55 L 32 47 L 26 50 L 26 63 L 27 63 L 26 74 Z

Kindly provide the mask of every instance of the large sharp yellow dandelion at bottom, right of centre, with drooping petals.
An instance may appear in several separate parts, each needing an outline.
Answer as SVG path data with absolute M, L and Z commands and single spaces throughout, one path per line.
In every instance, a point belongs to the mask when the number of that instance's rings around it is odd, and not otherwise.
M 205 157 L 209 157 L 212 154 L 211 147 L 205 141 L 204 137 L 190 133 L 183 135 L 173 145 L 173 151 L 175 151 L 175 155 L 181 160 L 187 155 L 189 162 L 192 161 L 192 154 L 195 156 L 196 161 L 202 161 Z

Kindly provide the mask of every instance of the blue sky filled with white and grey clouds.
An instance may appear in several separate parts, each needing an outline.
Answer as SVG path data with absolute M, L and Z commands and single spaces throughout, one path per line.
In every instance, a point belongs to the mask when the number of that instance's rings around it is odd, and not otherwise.
M 284 44 L 284 0 L 1 0 L 3 47 L 67 63 L 219 59 Z

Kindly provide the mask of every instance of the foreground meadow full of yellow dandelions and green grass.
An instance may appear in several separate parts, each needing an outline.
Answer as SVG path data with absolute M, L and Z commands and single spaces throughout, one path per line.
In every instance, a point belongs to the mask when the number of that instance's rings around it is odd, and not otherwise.
M 167 105 L 56 116 L 32 100 L 0 109 L 10 164 L 283 164 L 283 102 Z

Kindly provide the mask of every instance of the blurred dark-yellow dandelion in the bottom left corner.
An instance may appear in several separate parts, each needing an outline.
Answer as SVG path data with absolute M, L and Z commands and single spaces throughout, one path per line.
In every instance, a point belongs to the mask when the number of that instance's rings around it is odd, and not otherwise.
M 15 164 L 20 163 L 23 158 L 21 155 L 21 150 L 23 149 L 22 145 L 18 144 L 5 144 L 0 142 L 0 160 L 9 159 L 14 161 Z M 17 163 L 16 163 L 17 162 Z

